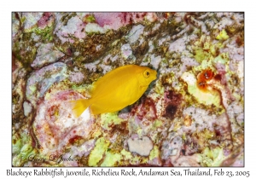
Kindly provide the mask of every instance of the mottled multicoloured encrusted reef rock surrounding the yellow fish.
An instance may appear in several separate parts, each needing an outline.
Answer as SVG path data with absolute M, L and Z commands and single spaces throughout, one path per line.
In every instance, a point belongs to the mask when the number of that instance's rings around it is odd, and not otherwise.
M 244 166 L 244 54 L 243 13 L 14 12 L 12 165 Z M 141 98 L 75 118 L 126 65 L 157 72 Z

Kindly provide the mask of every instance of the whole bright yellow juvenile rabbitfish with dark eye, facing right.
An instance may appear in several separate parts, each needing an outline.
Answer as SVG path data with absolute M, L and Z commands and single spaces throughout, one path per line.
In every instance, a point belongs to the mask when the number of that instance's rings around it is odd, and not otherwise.
M 137 65 L 120 66 L 93 84 L 90 99 L 72 101 L 79 117 L 87 107 L 93 114 L 112 113 L 136 102 L 156 79 L 157 72 Z

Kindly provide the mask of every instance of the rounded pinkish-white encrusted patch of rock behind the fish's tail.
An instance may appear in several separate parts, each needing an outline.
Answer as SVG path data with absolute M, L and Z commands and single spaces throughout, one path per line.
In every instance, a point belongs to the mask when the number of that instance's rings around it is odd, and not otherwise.
M 82 97 L 73 91 L 63 91 L 38 105 L 33 129 L 45 155 L 61 155 L 65 147 L 89 136 L 93 121 L 90 118 L 74 118 L 71 108 L 67 107 L 67 101 Z

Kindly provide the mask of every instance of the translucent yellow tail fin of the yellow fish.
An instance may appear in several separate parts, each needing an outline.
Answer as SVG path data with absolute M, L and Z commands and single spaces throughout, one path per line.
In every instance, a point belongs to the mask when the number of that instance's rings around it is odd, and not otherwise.
M 71 106 L 72 106 L 72 113 L 75 118 L 79 118 L 79 116 L 84 112 L 84 110 L 89 107 L 90 105 L 90 100 L 75 100 L 75 101 L 70 101 Z

